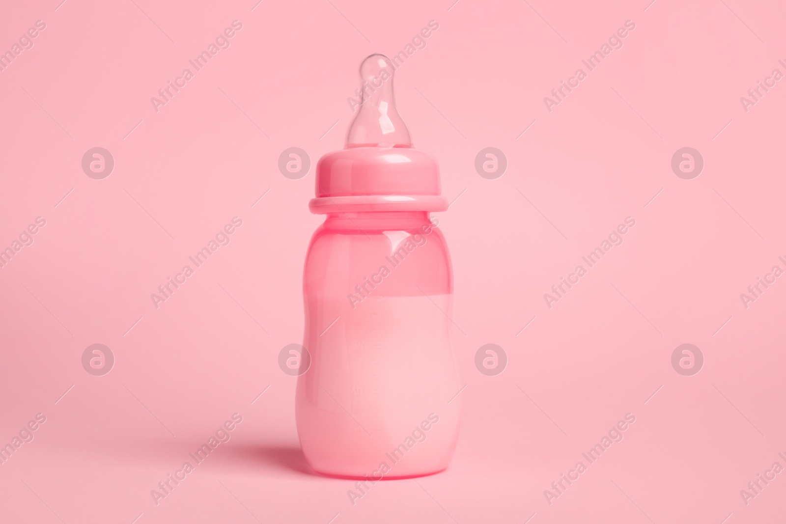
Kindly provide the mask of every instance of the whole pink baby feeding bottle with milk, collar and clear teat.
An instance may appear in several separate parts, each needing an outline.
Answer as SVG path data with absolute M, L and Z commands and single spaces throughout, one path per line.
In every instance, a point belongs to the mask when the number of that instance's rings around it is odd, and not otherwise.
M 442 471 L 457 444 L 461 388 L 450 346 L 453 272 L 431 211 L 446 211 L 439 167 L 412 147 L 394 68 L 360 68 L 362 104 L 346 145 L 319 160 L 303 271 L 310 367 L 296 421 L 314 471 L 406 478 Z

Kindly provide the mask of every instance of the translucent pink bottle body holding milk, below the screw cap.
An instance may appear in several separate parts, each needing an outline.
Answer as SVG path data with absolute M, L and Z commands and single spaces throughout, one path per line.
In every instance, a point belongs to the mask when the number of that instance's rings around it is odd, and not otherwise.
M 303 295 L 311 361 L 298 377 L 296 421 L 310 466 L 372 479 L 447 467 L 461 387 L 453 277 L 428 213 L 329 214 L 311 239 Z

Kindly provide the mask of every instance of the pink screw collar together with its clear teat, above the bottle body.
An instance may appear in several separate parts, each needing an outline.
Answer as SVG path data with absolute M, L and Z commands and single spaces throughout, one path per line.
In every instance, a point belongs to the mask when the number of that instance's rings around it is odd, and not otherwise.
M 360 66 L 360 108 L 341 151 L 319 159 L 312 213 L 445 211 L 439 167 L 412 147 L 410 130 L 395 107 L 391 60 L 381 54 Z

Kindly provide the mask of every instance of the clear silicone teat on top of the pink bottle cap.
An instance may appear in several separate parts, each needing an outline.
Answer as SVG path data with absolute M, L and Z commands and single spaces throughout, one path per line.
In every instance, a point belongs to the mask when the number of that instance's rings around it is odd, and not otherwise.
M 395 108 L 393 73 L 389 58 L 382 54 L 366 57 L 360 64 L 361 105 L 347 130 L 347 148 L 412 146 L 410 130 Z

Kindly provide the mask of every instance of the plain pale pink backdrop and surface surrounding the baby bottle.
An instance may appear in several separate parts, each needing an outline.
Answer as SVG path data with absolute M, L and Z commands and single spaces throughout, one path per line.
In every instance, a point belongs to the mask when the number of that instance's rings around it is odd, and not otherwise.
M 0 8 L 0 50 L 46 23 L 0 72 L 0 247 L 46 219 L 0 269 L 0 443 L 46 416 L 0 465 L 0 521 L 782 522 L 786 473 L 740 496 L 786 467 L 786 282 L 740 300 L 786 269 L 786 80 L 740 104 L 786 73 L 782 2 L 59 2 Z M 229 49 L 155 112 L 233 20 Z M 447 471 L 353 506 L 353 482 L 308 471 L 277 355 L 302 341 L 314 166 L 343 146 L 358 64 L 429 20 L 395 82 L 458 197 L 437 215 L 464 420 Z M 623 48 L 547 111 L 626 20 Z M 81 167 L 97 146 L 116 163 L 103 180 Z M 692 180 L 670 168 L 685 146 L 705 163 Z M 277 169 L 290 147 L 311 159 L 299 180 Z M 486 147 L 507 157 L 501 178 L 474 168 Z M 234 216 L 231 243 L 156 310 L 150 294 Z M 624 243 L 549 309 L 543 294 L 627 216 Z M 94 343 L 115 355 L 108 375 L 82 366 Z M 475 368 L 485 343 L 507 353 L 501 375 Z M 703 353 L 694 376 L 671 366 L 682 343 Z M 234 412 L 232 440 L 156 506 Z M 628 412 L 623 441 L 549 505 Z

